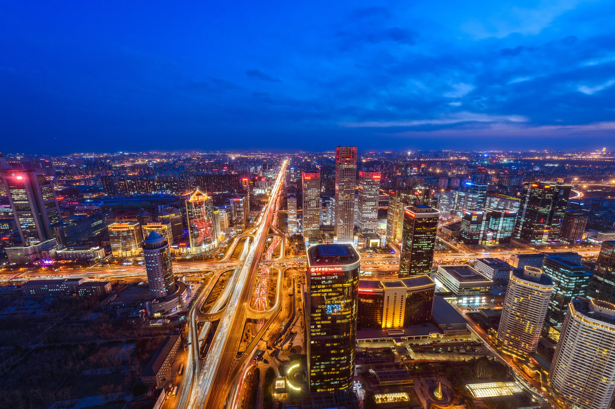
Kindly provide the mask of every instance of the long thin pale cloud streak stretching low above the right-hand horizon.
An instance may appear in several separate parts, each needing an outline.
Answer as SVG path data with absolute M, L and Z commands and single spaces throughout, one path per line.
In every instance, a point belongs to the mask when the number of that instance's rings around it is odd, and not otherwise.
M 460 122 L 527 122 L 530 119 L 523 115 L 490 115 L 477 114 L 475 112 L 457 112 L 448 118 L 420 119 L 406 121 L 367 121 L 367 122 L 342 122 L 340 125 L 346 128 L 389 128 L 389 127 L 418 127 L 421 125 L 451 125 Z

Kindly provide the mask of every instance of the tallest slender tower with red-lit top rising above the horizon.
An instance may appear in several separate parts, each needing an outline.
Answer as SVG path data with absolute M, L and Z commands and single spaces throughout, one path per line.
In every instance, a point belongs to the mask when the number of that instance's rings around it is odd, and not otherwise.
M 354 242 L 354 190 L 357 147 L 338 146 L 335 154 L 335 235 L 338 243 Z

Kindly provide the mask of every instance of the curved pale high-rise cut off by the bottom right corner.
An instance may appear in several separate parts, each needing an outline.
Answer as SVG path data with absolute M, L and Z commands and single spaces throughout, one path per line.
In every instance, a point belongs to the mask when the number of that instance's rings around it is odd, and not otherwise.
M 555 349 L 550 384 L 568 407 L 606 409 L 615 390 L 615 306 L 577 298 Z

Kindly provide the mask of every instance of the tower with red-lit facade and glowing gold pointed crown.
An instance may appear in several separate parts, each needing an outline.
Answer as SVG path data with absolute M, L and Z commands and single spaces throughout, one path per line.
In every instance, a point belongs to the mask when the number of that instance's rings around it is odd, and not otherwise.
M 186 199 L 186 216 L 191 254 L 211 251 L 218 246 L 213 225 L 213 201 L 199 189 Z

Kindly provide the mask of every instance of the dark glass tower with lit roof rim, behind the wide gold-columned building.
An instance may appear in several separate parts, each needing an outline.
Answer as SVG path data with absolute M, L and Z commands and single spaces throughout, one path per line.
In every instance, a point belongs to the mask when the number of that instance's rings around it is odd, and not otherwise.
M 425 204 L 405 208 L 399 260 L 400 278 L 431 273 L 439 216 L 440 212 Z

